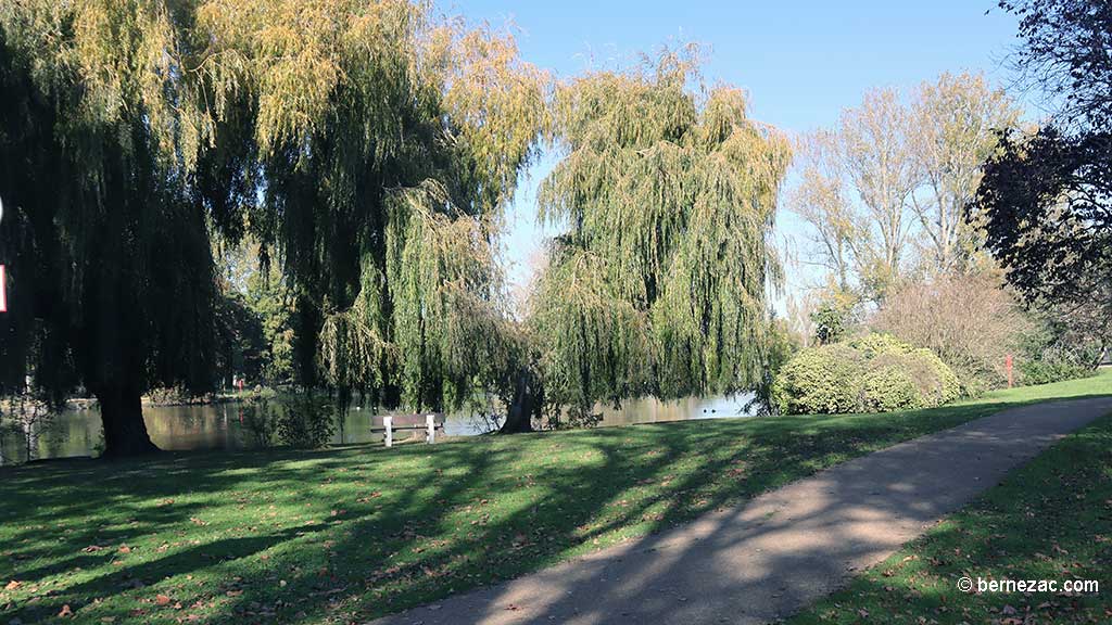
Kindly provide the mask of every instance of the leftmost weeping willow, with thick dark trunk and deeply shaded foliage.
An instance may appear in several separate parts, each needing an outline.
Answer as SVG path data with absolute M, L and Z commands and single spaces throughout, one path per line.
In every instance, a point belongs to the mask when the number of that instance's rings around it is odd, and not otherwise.
M 0 4 L 0 391 L 78 384 L 107 454 L 153 449 L 140 395 L 203 386 L 212 262 L 188 182 L 182 16 L 158 2 Z

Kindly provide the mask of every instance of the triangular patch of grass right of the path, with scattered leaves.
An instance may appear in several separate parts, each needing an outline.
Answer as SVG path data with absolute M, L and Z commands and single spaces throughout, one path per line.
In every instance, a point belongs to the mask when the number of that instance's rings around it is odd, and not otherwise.
M 788 623 L 1112 623 L 1110 573 L 1112 415 Z M 974 592 L 957 588 L 963 576 Z M 1100 591 L 976 592 L 977 579 L 1092 579 Z

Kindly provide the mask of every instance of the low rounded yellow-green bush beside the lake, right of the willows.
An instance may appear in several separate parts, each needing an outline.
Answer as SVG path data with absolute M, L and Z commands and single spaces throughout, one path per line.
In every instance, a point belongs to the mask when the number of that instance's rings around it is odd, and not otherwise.
M 773 400 L 785 414 L 886 413 L 940 406 L 961 388 L 930 349 L 868 334 L 796 354 L 781 369 Z

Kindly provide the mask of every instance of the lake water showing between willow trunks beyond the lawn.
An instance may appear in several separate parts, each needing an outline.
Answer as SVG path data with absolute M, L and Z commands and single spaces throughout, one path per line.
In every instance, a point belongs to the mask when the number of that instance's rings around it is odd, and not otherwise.
M 688 397 L 669 401 L 653 398 L 626 401 L 619 409 L 603 407 L 599 427 L 743 417 L 752 395 L 733 397 Z M 272 437 L 260 433 L 249 408 L 238 401 L 197 406 L 145 406 L 143 416 L 151 439 L 170 450 L 236 450 L 266 447 Z M 274 405 L 271 410 L 282 409 Z M 377 443 L 381 434 L 370 431 L 370 411 L 351 408 L 337 415 L 335 445 Z M 448 436 L 473 436 L 490 429 L 481 418 L 450 415 L 445 421 Z M 32 446 L 33 459 L 92 456 L 101 445 L 100 413 L 93 407 L 67 409 L 57 415 L 41 431 L 32 431 L 38 440 Z M 405 437 L 401 434 L 400 437 Z M 0 438 L 0 465 L 28 459 L 26 437 L 20 430 L 6 429 Z

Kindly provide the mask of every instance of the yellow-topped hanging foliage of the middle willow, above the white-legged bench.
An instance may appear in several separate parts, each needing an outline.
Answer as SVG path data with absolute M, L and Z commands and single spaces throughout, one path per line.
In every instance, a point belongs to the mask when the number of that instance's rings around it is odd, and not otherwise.
M 429 10 L 211 0 L 197 13 L 215 118 L 257 149 L 247 220 L 300 292 L 302 379 L 319 369 L 414 408 L 504 375 L 516 339 L 494 245 L 547 123 L 547 78 L 512 38 Z

